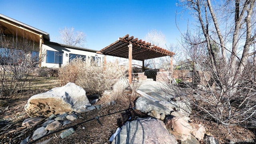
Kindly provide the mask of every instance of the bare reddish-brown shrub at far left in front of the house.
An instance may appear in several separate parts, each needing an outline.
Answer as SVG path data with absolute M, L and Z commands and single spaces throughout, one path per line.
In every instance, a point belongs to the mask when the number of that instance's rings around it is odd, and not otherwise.
M 0 31 L 0 98 L 29 88 L 30 75 L 40 62 L 32 56 L 34 42 L 27 38 L 7 37 Z

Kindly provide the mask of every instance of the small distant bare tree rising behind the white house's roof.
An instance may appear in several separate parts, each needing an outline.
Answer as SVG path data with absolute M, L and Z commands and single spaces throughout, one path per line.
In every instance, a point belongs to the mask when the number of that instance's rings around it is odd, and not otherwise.
M 74 28 L 64 28 L 59 31 L 60 40 L 63 44 L 69 46 L 84 46 L 86 42 L 86 34 L 82 31 L 74 32 Z

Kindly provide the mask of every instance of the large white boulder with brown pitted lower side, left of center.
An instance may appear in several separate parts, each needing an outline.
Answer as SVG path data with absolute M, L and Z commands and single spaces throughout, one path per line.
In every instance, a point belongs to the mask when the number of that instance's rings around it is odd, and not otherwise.
M 25 110 L 29 116 L 48 117 L 51 114 L 73 112 L 91 106 L 86 92 L 80 86 L 69 82 L 65 86 L 36 94 L 28 99 Z

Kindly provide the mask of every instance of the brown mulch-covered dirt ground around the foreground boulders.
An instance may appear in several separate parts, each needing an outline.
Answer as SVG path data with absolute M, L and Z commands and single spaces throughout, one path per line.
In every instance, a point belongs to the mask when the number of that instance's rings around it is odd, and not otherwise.
M 1 99 L 6 100 L 7 104 L 0 108 L 0 144 L 20 144 L 22 140 L 28 136 L 32 136 L 32 132 L 41 126 L 41 124 L 30 126 L 28 128 L 21 126 L 23 120 L 29 118 L 24 111 L 24 106 L 28 98 L 30 98 L 32 95 L 49 90 L 49 88 L 44 90 L 34 90 L 29 94 L 20 95 L 9 99 Z M 130 93 L 125 92 L 123 97 L 116 100 L 116 105 L 113 106 L 108 106 L 104 104 L 104 100 L 100 100 L 99 103 L 102 104 L 102 108 L 100 110 L 92 110 L 91 112 L 80 114 L 80 118 L 78 118 L 78 120 L 66 126 L 62 126 L 60 129 L 74 126 L 75 124 L 96 118 L 97 116 L 110 114 L 120 110 L 126 110 L 129 107 L 131 108 L 130 104 L 134 106 L 133 101 L 135 100 L 136 96 L 130 98 L 131 102 L 129 98 Z M 194 111 L 193 113 L 196 112 Z M 136 117 L 146 117 L 146 115 L 142 114 L 138 110 L 126 110 L 109 116 L 100 117 L 99 121 L 102 125 L 96 119 L 94 119 L 78 126 L 74 126 L 75 132 L 64 139 L 60 138 L 61 132 L 57 132 L 42 138 L 38 142 L 52 138 L 48 144 L 109 144 L 110 142 L 108 140 L 116 131 L 116 128 L 122 126 L 126 121 L 129 120 L 129 118 L 131 118 L 130 120 L 134 120 Z M 256 141 L 255 130 L 253 129 L 248 130 L 238 126 L 226 127 L 216 124 L 215 122 L 204 121 L 193 116 L 191 116 L 191 121 L 202 124 L 206 128 L 207 134 L 216 137 L 220 143 L 229 143 L 230 139 L 254 139 L 254 141 Z M 32 142 L 32 140 L 30 142 Z M 35 144 L 38 142 L 35 142 Z M 203 144 L 202 141 L 201 144 Z

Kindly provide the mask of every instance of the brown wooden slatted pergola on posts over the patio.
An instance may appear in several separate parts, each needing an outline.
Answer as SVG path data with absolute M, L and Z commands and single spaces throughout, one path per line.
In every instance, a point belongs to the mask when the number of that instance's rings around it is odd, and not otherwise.
M 116 56 L 120 58 L 128 58 L 128 79 L 129 83 L 132 83 L 132 59 L 142 61 L 142 69 L 144 70 L 144 60 L 151 58 L 159 58 L 162 56 L 170 56 L 170 65 L 172 71 L 172 56 L 174 52 L 165 50 L 155 45 L 151 45 L 149 42 L 138 40 L 134 36 L 129 34 L 125 35 L 106 48 L 97 52 L 98 54 L 104 54 L 104 63 L 106 64 L 106 55 Z

